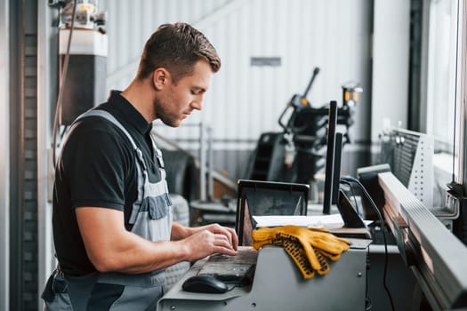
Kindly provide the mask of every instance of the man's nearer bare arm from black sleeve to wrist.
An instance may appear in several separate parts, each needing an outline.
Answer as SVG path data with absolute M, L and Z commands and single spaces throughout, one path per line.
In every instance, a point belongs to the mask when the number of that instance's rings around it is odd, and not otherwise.
M 126 231 L 123 218 L 122 211 L 107 208 L 76 209 L 87 256 L 97 270 L 136 274 L 193 258 L 193 247 L 187 241 L 151 242 Z

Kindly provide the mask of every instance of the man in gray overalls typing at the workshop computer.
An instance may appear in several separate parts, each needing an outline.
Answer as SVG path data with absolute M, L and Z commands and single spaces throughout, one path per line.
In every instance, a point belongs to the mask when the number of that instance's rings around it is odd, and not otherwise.
M 56 167 L 52 222 L 60 268 L 44 290 L 46 308 L 153 309 L 165 267 L 237 254 L 231 228 L 172 222 L 164 162 L 150 136 L 152 121 L 177 127 L 201 110 L 220 66 L 197 29 L 162 25 L 125 91 L 76 119 Z

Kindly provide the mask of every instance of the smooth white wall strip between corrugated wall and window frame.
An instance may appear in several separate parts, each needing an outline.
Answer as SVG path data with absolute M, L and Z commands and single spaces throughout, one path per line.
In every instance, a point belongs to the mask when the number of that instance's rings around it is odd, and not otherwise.
M 407 128 L 410 1 L 374 0 L 371 139 L 384 119 Z

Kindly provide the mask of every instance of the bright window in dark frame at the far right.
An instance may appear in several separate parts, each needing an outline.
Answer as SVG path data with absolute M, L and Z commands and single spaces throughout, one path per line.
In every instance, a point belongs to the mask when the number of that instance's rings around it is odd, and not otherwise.
M 460 76 L 459 29 L 462 27 L 459 1 L 429 0 L 426 51 L 426 132 L 434 138 L 434 202 L 442 205 L 447 183 L 457 172 L 454 154 L 455 131 L 460 130 L 455 115 L 460 114 L 456 96 Z M 457 118 L 459 119 L 459 118 Z M 457 147 L 456 147 L 457 148 Z M 438 194 L 437 194 L 438 193 Z M 438 196 L 438 199 L 437 199 Z

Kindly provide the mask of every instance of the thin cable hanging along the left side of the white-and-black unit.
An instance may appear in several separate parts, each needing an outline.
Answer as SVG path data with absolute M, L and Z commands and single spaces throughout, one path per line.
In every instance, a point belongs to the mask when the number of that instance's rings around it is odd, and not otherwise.
M 68 44 L 67 44 L 67 52 L 65 54 L 65 59 L 63 60 L 63 70 L 61 71 L 60 76 L 60 88 L 59 88 L 59 95 L 57 96 L 57 103 L 55 105 L 55 115 L 53 116 L 53 127 L 52 127 L 52 161 L 53 165 L 57 163 L 55 149 L 57 148 L 57 127 L 59 123 L 59 111 L 61 108 L 61 101 L 63 100 L 63 86 L 65 85 L 65 81 L 67 80 L 67 73 L 68 73 L 68 62 L 69 62 L 69 47 L 71 45 L 71 36 L 73 35 L 73 28 L 75 28 L 75 18 L 76 18 L 76 0 L 73 0 L 73 12 L 71 18 L 71 28 L 69 29 L 68 35 Z

